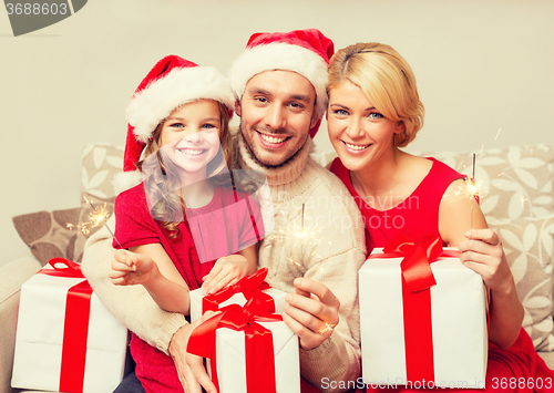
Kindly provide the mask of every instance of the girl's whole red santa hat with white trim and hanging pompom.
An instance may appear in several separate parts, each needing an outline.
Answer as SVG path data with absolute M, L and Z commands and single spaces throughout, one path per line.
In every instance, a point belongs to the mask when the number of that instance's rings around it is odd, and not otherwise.
M 172 112 L 196 100 L 218 101 L 233 114 L 235 96 L 228 79 L 212 66 L 168 55 L 160 60 L 143 79 L 127 106 L 127 138 L 123 174 L 114 179 L 119 194 L 142 182 L 136 163 L 157 125 Z

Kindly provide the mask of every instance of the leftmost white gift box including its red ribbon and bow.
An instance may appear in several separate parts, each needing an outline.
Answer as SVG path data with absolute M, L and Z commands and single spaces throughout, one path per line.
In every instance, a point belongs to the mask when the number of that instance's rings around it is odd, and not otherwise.
M 127 329 L 94 294 L 79 265 L 54 258 L 21 287 L 13 387 L 112 392 L 122 381 Z

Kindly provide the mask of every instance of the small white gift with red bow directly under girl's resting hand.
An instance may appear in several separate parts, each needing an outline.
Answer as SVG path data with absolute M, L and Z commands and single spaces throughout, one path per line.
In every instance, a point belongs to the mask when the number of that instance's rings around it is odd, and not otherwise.
M 191 291 L 191 322 L 196 321 L 206 311 L 216 311 L 229 304 L 244 306 L 253 298 L 265 304 L 266 313 L 283 313 L 287 293 L 264 282 L 266 276 L 267 268 L 261 268 L 234 286 L 222 288 L 213 294 L 204 296 L 202 289 Z

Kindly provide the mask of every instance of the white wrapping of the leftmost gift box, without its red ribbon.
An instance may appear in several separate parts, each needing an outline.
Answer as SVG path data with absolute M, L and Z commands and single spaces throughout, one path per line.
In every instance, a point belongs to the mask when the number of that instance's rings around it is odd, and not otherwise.
M 66 296 L 83 281 L 39 272 L 21 286 L 13 387 L 60 390 Z M 113 392 L 124 375 L 127 329 L 94 292 L 89 316 L 82 392 Z

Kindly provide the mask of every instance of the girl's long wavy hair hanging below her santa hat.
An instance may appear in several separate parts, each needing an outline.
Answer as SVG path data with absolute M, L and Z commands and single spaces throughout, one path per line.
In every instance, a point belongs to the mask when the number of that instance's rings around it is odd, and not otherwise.
M 229 133 L 229 112 L 227 106 L 216 101 L 220 116 L 220 148 L 217 155 L 206 166 L 208 180 L 215 186 L 232 186 L 228 176 L 216 176 L 225 167 L 230 169 L 233 163 L 233 148 Z M 186 104 L 185 104 L 186 105 Z M 177 106 L 177 110 L 181 106 Z M 144 179 L 144 190 L 152 200 L 158 200 L 151 207 L 152 217 L 162 221 L 162 227 L 170 230 L 170 238 L 178 235 L 178 225 L 185 218 L 185 201 L 175 189 L 178 188 L 179 178 L 175 164 L 163 154 L 161 149 L 163 120 L 154 130 L 152 138 L 145 147 L 145 158 L 136 164 L 141 172 L 148 173 Z M 152 156 L 155 154 L 155 158 Z M 150 157 L 150 158 L 148 158 Z

